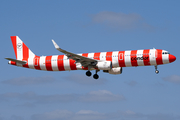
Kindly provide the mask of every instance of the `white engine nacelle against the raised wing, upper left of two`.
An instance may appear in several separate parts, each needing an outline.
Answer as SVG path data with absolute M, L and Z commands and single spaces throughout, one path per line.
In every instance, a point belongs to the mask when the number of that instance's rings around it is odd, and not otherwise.
M 112 62 L 111 61 L 102 61 L 102 62 L 98 62 L 96 66 L 100 70 L 111 70 Z

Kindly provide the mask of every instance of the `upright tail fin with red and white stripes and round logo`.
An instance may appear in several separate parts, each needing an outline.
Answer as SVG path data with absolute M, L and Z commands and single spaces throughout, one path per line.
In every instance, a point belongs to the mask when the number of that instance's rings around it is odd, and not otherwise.
M 17 60 L 35 57 L 35 54 L 24 44 L 18 36 L 11 36 L 14 52 Z

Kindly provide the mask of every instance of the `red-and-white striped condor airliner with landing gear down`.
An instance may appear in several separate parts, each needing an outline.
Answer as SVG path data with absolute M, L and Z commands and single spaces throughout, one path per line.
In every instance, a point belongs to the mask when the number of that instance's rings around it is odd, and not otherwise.
M 61 49 L 54 40 L 54 47 L 64 55 L 37 56 L 18 36 L 11 36 L 11 41 L 16 59 L 5 58 L 9 60 L 8 64 L 45 71 L 86 70 L 88 77 L 92 75 L 91 70 L 95 70 L 94 79 L 99 78 L 97 73 L 100 70 L 117 75 L 122 73 L 123 67 L 155 66 L 158 74 L 158 65 L 176 60 L 168 51 L 155 48 L 75 54 Z

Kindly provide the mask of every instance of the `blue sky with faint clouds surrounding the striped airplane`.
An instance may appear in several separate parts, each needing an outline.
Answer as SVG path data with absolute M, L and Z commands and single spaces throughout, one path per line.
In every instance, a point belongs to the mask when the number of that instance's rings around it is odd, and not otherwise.
M 180 2 L 1 1 L 0 120 L 179 120 Z M 121 75 L 47 72 L 15 67 L 10 36 L 37 55 L 164 49 L 174 63 L 123 68 Z

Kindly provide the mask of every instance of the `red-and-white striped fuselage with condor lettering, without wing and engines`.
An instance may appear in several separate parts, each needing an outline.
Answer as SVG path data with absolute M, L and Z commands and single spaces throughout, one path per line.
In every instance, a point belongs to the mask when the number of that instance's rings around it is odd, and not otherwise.
M 24 51 L 23 55 L 28 55 L 29 51 Z M 163 54 L 167 53 L 167 54 Z M 175 60 L 175 57 L 168 54 L 165 50 L 146 49 L 146 50 L 128 50 L 128 51 L 113 51 L 113 52 L 98 52 L 98 53 L 83 53 L 78 54 L 84 57 L 92 58 L 98 61 L 111 61 L 112 67 L 137 67 L 137 66 L 157 66 L 168 64 Z M 31 56 L 30 58 L 23 57 L 23 61 L 27 61 L 25 65 L 17 64 L 10 61 L 9 64 L 17 65 L 26 68 L 45 71 L 70 71 L 70 70 L 88 70 L 87 67 L 81 66 L 80 63 L 75 63 L 73 59 L 68 59 L 66 55 L 52 56 Z

